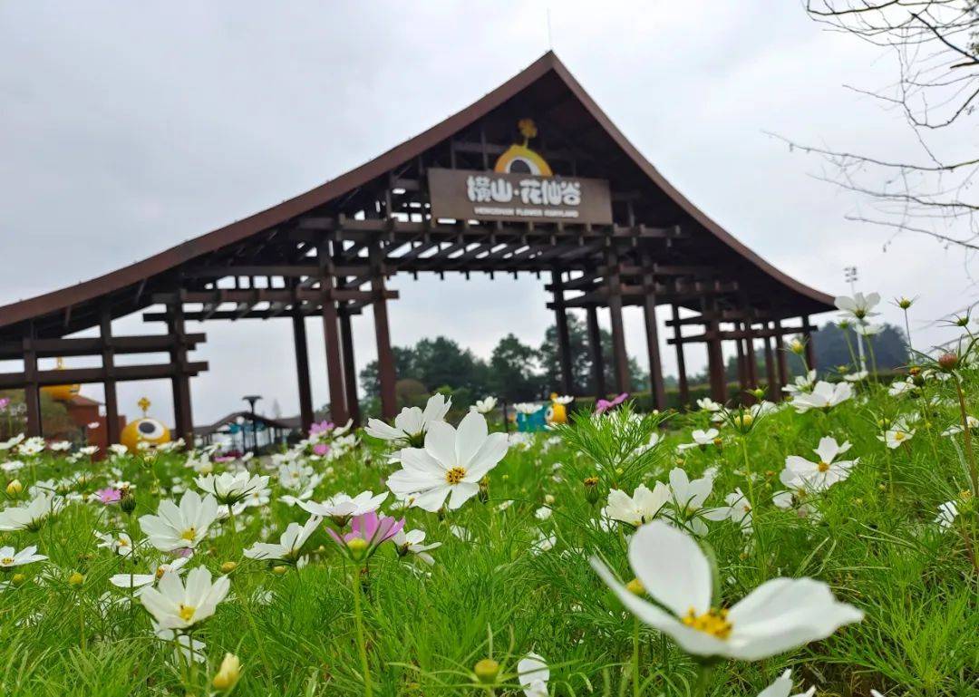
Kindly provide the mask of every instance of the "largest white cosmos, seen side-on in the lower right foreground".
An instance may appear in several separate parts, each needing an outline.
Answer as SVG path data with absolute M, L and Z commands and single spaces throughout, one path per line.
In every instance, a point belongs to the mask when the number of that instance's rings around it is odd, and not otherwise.
M 837 601 L 813 579 L 772 579 L 730 610 L 712 604 L 710 562 L 693 537 L 654 521 L 629 542 L 629 564 L 658 604 L 630 592 L 592 557 L 591 566 L 641 622 L 673 637 L 694 656 L 758 661 L 862 620 L 857 608 Z M 662 606 L 662 607 L 661 607 Z

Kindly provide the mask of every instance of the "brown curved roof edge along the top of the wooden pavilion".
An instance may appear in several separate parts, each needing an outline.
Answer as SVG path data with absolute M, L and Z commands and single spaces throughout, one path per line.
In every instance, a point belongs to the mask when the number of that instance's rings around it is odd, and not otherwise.
M 107 294 L 139 284 L 150 277 L 163 274 L 196 257 L 215 252 L 221 248 L 245 240 L 256 233 L 282 224 L 310 209 L 316 209 L 328 204 L 350 193 L 357 187 L 370 182 L 372 179 L 383 175 L 397 165 L 420 156 L 426 150 L 438 145 L 477 119 L 488 115 L 489 112 L 512 99 L 549 73 L 553 73 L 563 83 L 577 98 L 584 110 L 600 124 L 604 132 L 614 140 L 618 147 L 629 157 L 629 160 L 656 187 L 669 197 L 679 209 L 688 213 L 691 218 L 711 233 L 723 246 L 726 246 L 737 256 L 753 264 L 765 275 L 769 276 L 770 279 L 783 286 L 785 290 L 797 294 L 808 301 L 807 304 L 813 307 L 811 311 L 817 312 L 832 309 L 832 296 L 820 293 L 780 271 L 736 240 L 721 225 L 712 220 L 706 213 L 698 209 L 680 194 L 660 174 L 656 167 L 635 149 L 629 142 L 629 139 L 626 138 L 609 117 L 595 104 L 594 100 L 584 91 L 582 85 L 579 84 L 578 80 L 575 79 L 557 56 L 553 52 L 548 51 L 527 69 L 522 70 L 469 107 L 449 116 L 441 123 L 401 143 L 370 162 L 361 164 L 345 174 L 310 189 L 293 199 L 284 201 L 269 209 L 256 212 L 246 218 L 212 230 L 200 237 L 183 242 L 129 266 L 122 267 L 111 273 L 78 283 L 74 286 L 21 302 L 0 306 L 0 327 L 11 326 L 31 318 L 53 312 L 65 311 L 81 303 L 95 301 Z

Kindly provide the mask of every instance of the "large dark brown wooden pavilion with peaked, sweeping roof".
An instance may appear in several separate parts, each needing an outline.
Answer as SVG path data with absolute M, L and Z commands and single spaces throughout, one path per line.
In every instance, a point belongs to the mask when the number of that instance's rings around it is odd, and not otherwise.
M 330 410 L 359 421 L 350 323 L 371 305 L 382 410 L 396 412 L 388 282 L 398 273 L 547 274 L 563 370 L 572 384 L 567 311 L 584 308 L 598 392 L 629 384 L 623 307 L 645 317 L 655 402 L 665 403 L 656 312 L 670 305 L 679 392 L 688 400 L 684 346 L 707 345 L 711 391 L 726 398 L 723 343 L 734 342 L 740 382 L 769 391 L 787 370 L 783 337 L 810 336 L 809 315 L 831 297 L 787 276 L 697 209 L 629 143 L 560 60 L 548 52 L 485 97 L 380 157 L 278 206 L 158 255 L 63 290 L 0 307 L 0 358 L 23 370 L 27 430 L 41 432 L 38 390 L 103 383 L 109 440 L 118 440 L 116 385 L 172 382 L 176 432 L 193 434 L 190 379 L 207 370 L 190 352 L 205 341 L 188 320 L 288 319 L 303 426 L 313 419 L 304 318 L 322 318 Z M 115 336 L 112 321 L 146 311 L 165 334 Z M 607 308 L 615 385 L 603 384 L 598 310 Z M 681 316 L 680 310 L 683 309 Z M 690 314 L 690 312 L 694 314 Z M 789 320 L 794 326 L 786 324 Z M 684 335 L 684 325 L 702 327 Z M 95 338 L 71 338 L 100 328 Z M 812 360 L 812 344 L 807 342 Z M 166 363 L 117 365 L 121 353 L 166 352 Z M 100 367 L 39 370 L 50 356 L 99 356 Z

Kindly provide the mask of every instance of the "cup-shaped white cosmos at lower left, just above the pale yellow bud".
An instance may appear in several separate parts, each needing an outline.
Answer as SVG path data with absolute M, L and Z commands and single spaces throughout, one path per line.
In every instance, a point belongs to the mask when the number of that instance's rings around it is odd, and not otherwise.
M 187 584 L 180 576 L 166 572 L 157 587 L 146 587 L 139 600 L 161 629 L 186 629 L 207 620 L 231 588 L 228 577 L 210 581 L 210 571 L 196 567 L 187 572 Z

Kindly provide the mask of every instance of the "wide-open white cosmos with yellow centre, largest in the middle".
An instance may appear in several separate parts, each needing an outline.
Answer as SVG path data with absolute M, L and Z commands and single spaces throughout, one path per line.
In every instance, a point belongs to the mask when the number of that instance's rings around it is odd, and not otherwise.
M 388 477 L 388 488 L 401 498 L 416 494 L 412 505 L 433 512 L 451 493 L 448 507 L 454 510 L 479 492 L 480 480 L 506 450 L 506 434 L 490 434 L 479 412 L 466 414 L 458 431 L 437 421 L 429 425 L 425 447 L 398 453 L 402 469 Z

